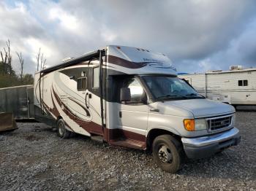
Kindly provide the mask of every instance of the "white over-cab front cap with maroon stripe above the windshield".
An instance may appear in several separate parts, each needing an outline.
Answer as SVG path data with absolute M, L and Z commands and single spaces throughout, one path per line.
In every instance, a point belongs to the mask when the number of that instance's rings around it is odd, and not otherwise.
M 167 74 L 176 76 L 170 58 L 138 47 L 109 45 L 108 65 L 125 74 Z

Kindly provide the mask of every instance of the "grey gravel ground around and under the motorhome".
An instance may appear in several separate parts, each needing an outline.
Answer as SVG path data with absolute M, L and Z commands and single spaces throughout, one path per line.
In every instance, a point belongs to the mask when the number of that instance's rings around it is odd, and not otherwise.
M 85 136 L 61 140 L 42 123 L 0 135 L 0 190 L 256 190 L 256 112 L 237 112 L 241 144 L 167 174 L 148 152 Z

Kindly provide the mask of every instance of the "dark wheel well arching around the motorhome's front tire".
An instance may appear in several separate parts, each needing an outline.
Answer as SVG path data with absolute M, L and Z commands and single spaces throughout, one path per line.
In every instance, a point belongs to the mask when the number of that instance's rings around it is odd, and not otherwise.
M 154 139 L 157 136 L 162 136 L 162 135 L 171 135 L 174 138 L 176 138 L 178 141 L 181 141 L 181 137 L 177 136 L 176 134 L 168 131 L 168 130 L 163 130 L 163 129 L 152 129 L 148 132 L 148 136 L 147 136 L 147 149 L 151 150 L 152 149 L 152 144 Z

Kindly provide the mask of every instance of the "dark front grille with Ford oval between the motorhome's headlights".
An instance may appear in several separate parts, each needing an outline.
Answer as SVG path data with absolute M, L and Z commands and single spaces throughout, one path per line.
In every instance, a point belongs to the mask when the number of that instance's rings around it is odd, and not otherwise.
M 208 130 L 219 130 L 222 128 L 227 128 L 231 125 L 232 116 L 225 116 L 225 117 L 214 117 L 209 118 L 208 122 Z

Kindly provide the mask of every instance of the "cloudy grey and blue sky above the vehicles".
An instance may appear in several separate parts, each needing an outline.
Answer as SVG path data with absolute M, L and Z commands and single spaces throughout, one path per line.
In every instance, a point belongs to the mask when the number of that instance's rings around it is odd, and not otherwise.
M 256 1 L 252 0 L 0 0 L 0 47 L 10 39 L 25 71 L 120 44 L 170 57 L 180 72 L 256 67 Z

